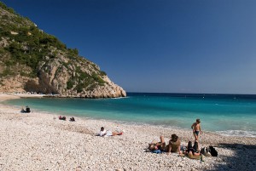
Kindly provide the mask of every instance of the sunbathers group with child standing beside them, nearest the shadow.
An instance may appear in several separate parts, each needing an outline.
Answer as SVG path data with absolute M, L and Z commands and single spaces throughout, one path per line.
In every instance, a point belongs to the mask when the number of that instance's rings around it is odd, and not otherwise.
M 196 119 L 195 123 L 191 125 L 193 129 L 193 134 L 195 136 L 194 145 L 192 141 L 189 141 L 187 146 L 181 145 L 181 140 L 178 138 L 177 134 L 172 134 L 171 140 L 166 144 L 163 136 L 160 136 L 160 142 L 152 142 L 148 144 L 148 149 L 155 153 L 167 152 L 167 154 L 179 153 L 181 156 L 187 155 L 190 158 L 200 159 L 201 153 L 199 149 L 199 135 L 201 134 L 201 121 Z

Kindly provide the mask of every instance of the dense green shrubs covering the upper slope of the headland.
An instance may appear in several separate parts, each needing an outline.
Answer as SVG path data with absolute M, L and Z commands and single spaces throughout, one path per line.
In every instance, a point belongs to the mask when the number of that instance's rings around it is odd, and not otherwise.
M 4 47 L 0 53 L 9 53 L 10 59 L 5 65 L 14 66 L 17 63 L 30 66 L 36 74 L 38 62 L 44 60 L 44 56 L 51 54 L 50 47 L 55 47 L 67 52 L 70 56 L 77 56 L 77 49 L 67 49 L 56 37 L 39 30 L 32 21 L 15 13 L 14 9 L 7 8 L 0 2 L 1 9 L 0 36 L 10 40 L 9 46 Z

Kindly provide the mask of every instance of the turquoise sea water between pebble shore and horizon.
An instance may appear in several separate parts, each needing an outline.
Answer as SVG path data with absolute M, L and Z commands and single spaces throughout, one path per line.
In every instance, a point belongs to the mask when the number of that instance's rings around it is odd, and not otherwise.
M 57 115 L 90 117 L 136 124 L 190 128 L 196 118 L 203 130 L 256 137 L 256 95 L 135 94 L 117 99 L 20 99 L 7 105 Z

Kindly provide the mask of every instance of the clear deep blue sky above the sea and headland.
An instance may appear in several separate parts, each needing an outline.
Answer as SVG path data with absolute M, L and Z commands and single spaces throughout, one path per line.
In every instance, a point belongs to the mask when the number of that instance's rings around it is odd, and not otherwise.
M 254 0 L 0 0 L 127 92 L 256 94 Z

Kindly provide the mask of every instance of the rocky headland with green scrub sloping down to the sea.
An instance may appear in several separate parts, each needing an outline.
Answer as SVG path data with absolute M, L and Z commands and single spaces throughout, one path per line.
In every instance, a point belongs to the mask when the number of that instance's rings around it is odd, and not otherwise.
M 0 92 L 124 97 L 99 66 L 0 3 Z

